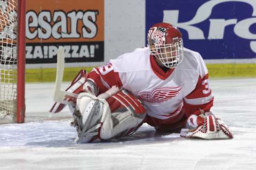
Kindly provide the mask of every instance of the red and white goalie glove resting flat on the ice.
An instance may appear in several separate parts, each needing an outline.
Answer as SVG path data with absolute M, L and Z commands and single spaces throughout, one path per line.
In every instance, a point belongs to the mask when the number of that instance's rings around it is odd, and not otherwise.
M 202 121 L 202 118 L 204 120 Z M 193 126 L 197 125 L 197 127 Z M 186 128 L 181 129 L 180 136 L 184 138 L 202 138 L 202 139 L 231 139 L 233 134 L 228 126 L 211 112 L 202 113 L 199 116 L 191 115 L 188 118 Z

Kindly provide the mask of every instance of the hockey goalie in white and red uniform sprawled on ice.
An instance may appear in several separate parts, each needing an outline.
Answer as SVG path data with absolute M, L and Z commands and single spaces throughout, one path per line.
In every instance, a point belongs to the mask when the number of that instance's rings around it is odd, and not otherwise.
M 184 138 L 231 139 L 227 124 L 210 109 L 213 95 L 202 56 L 183 47 L 181 32 L 169 23 L 148 31 L 148 47 L 110 60 L 90 73 L 81 70 L 67 92 L 66 104 L 78 143 L 120 138 L 143 123 Z

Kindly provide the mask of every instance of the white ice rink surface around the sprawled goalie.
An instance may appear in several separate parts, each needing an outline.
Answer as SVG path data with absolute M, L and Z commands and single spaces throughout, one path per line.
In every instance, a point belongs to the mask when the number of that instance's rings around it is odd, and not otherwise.
M 0 169 L 256 169 L 256 79 L 210 83 L 212 111 L 230 126 L 232 140 L 182 139 L 144 124 L 130 137 L 82 145 L 73 141 L 68 109 L 47 112 L 54 84 L 27 84 L 26 123 L 0 125 Z

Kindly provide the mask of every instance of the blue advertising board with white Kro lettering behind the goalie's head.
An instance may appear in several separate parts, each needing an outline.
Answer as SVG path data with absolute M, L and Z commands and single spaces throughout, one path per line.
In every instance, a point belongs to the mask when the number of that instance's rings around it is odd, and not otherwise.
M 146 35 L 158 22 L 177 26 L 204 59 L 256 57 L 256 0 L 146 0 Z

